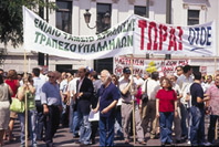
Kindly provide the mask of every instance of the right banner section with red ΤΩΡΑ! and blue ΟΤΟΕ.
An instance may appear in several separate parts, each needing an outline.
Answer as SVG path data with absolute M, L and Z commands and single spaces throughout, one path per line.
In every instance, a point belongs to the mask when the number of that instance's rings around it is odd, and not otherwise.
M 136 15 L 134 54 L 216 55 L 216 24 L 174 27 Z

